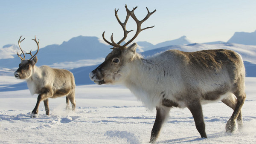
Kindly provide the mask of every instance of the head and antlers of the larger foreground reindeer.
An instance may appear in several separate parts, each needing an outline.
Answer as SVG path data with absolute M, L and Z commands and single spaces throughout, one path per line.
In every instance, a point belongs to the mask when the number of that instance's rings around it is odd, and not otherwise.
M 128 46 L 128 47 L 126 47 L 126 46 L 129 43 L 131 43 L 139 35 L 139 33 L 141 31 L 154 27 L 154 26 L 151 26 L 151 27 L 141 29 L 141 24 L 145 20 L 147 20 L 151 14 L 156 12 L 156 10 L 154 10 L 153 12 L 149 12 L 148 8 L 146 8 L 148 11 L 148 14 L 145 16 L 145 18 L 143 20 L 138 20 L 134 14 L 134 10 L 137 9 L 137 7 L 133 8 L 133 10 L 130 11 L 127 8 L 127 6 L 125 5 L 125 9 L 126 9 L 127 15 L 126 15 L 126 19 L 125 19 L 124 23 L 122 23 L 119 20 L 118 15 L 117 15 L 118 9 L 117 9 L 117 11 L 115 9 L 115 16 L 116 16 L 118 23 L 122 26 L 122 29 L 124 31 L 124 37 L 118 43 L 115 43 L 113 40 L 113 34 L 112 34 L 111 35 L 112 43 L 111 43 L 105 39 L 105 37 L 104 37 L 105 32 L 103 32 L 103 34 L 102 34 L 102 37 L 105 40 L 105 42 L 107 42 L 108 44 L 113 46 L 113 48 L 111 48 L 113 50 L 111 53 L 109 53 L 107 55 L 107 57 L 105 58 L 105 61 L 101 65 L 99 65 L 96 69 L 94 69 L 92 72 L 90 72 L 89 77 L 96 84 L 114 84 L 114 83 L 122 82 L 123 80 L 125 80 L 125 77 L 127 75 L 129 75 L 130 68 L 128 66 L 128 63 L 131 63 L 132 60 L 134 59 L 134 57 L 136 57 L 136 55 L 137 55 L 136 54 L 136 48 L 137 48 L 136 43 L 133 43 L 131 46 Z M 137 23 L 137 31 L 136 31 L 134 37 L 131 38 L 131 40 L 129 40 L 127 43 L 125 43 L 124 45 L 121 46 L 120 44 L 125 40 L 128 33 L 132 31 L 132 30 L 127 31 L 126 27 L 125 27 L 130 16 Z

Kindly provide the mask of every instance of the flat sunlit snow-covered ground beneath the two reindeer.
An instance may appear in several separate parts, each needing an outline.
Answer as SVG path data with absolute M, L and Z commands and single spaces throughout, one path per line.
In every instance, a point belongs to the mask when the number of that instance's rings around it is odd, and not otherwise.
M 18 84 L 9 69 L 0 69 L 0 87 Z M 26 85 L 26 83 L 24 83 Z M 203 106 L 208 138 L 201 138 L 187 108 L 174 108 L 157 143 L 256 143 L 256 78 L 246 78 L 244 127 L 233 134 L 225 124 L 233 110 L 218 102 Z M 156 112 L 148 111 L 123 86 L 76 86 L 76 111 L 65 110 L 65 98 L 49 99 L 50 115 L 41 102 L 30 118 L 37 95 L 28 89 L 0 91 L 0 143 L 148 143 Z

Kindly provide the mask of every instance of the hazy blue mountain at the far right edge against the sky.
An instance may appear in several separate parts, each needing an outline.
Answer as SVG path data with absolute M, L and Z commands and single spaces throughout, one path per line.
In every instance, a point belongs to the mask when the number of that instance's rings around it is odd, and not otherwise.
M 256 45 L 256 31 L 255 32 L 235 32 L 235 34 L 227 42 L 240 43 L 244 45 Z

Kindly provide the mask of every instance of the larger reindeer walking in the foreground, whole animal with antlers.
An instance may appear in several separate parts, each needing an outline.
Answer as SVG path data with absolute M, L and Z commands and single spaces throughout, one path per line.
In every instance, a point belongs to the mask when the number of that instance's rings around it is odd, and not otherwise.
M 143 58 L 136 52 L 137 44 L 131 43 L 141 29 L 141 24 L 153 14 L 149 12 L 143 20 L 138 20 L 125 5 L 127 16 L 121 23 L 117 12 L 115 16 L 124 31 L 124 37 L 118 43 L 105 39 L 113 46 L 105 61 L 90 72 L 89 77 L 96 84 L 123 84 L 149 109 L 156 108 L 157 114 L 151 131 L 150 143 L 159 136 L 161 127 L 169 117 L 172 107 L 187 107 L 193 115 L 195 127 L 202 138 L 207 138 L 202 112 L 202 104 L 222 101 L 234 110 L 226 124 L 227 132 L 236 130 L 236 120 L 242 127 L 241 107 L 244 104 L 245 69 L 241 55 L 226 49 L 181 52 L 167 50 L 152 57 Z M 148 10 L 148 8 L 147 8 Z M 134 37 L 124 45 L 127 31 L 125 25 L 131 16 L 137 23 Z

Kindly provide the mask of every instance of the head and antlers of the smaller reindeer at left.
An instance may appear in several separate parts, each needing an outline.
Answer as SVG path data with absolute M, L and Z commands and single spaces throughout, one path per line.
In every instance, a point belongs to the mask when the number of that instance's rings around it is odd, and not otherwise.
M 20 36 L 20 38 L 21 37 L 22 36 Z M 25 38 L 23 38 L 23 40 L 24 39 Z M 20 41 L 20 39 L 19 39 L 19 41 L 18 41 L 19 47 L 20 47 L 20 43 L 23 40 Z M 39 51 L 39 39 L 38 39 L 38 41 L 36 40 L 36 38 L 32 39 L 32 40 L 35 40 L 35 42 L 36 42 L 36 44 L 38 46 L 38 50 L 35 53 L 35 55 L 36 55 L 38 53 L 38 51 Z M 14 76 L 15 76 L 15 78 L 27 79 L 27 78 L 29 78 L 32 75 L 33 68 L 35 66 L 35 63 L 37 63 L 38 58 L 37 58 L 37 56 L 32 55 L 31 50 L 30 50 L 30 52 L 26 53 L 26 54 L 30 54 L 31 58 L 29 60 L 26 60 L 25 59 L 25 54 L 24 54 L 23 50 L 21 49 L 21 47 L 20 47 L 20 50 L 21 50 L 22 53 L 19 55 L 18 52 L 17 52 L 17 55 L 18 55 L 18 57 L 20 57 L 21 63 L 19 64 L 19 68 L 16 70 L 16 72 L 14 72 Z M 23 54 L 24 58 L 21 57 L 22 54 Z

